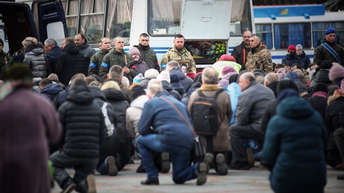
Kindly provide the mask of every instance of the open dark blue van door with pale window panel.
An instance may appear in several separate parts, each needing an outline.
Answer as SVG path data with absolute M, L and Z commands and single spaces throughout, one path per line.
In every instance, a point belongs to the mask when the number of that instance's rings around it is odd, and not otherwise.
M 49 0 L 37 3 L 39 40 L 44 42 L 53 38 L 58 45 L 68 37 L 66 18 L 61 0 Z

